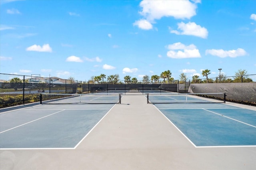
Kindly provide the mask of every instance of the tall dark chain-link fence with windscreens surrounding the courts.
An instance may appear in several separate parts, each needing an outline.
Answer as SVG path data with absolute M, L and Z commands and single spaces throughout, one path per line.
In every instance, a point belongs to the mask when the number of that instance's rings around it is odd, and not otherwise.
M 220 79 L 219 79 L 220 78 Z M 208 79 L 193 79 L 188 81 L 142 81 L 124 80 L 112 81 L 77 81 L 60 79 L 58 77 L 40 77 L 40 75 L 12 75 L 0 73 L 0 108 L 26 103 L 38 102 L 40 93 L 94 93 L 111 89 L 129 89 L 138 92 L 138 89 L 158 88 L 171 92 L 187 93 L 193 83 L 245 83 L 256 82 L 256 74 L 216 77 Z

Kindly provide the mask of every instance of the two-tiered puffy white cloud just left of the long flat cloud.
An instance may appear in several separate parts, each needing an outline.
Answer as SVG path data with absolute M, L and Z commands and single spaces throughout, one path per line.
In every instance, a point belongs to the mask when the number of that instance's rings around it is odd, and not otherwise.
M 201 57 L 200 52 L 196 49 L 194 44 L 190 44 L 188 46 L 178 42 L 168 45 L 168 49 L 170 51 L 167 52 L 167 56 L 170 58 L 198 58 Z M 181 49 L 181 50 L 178 50 Z

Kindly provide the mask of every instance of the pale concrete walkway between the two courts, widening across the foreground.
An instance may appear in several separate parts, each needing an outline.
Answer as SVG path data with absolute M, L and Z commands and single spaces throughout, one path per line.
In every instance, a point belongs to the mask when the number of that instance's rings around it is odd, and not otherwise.
M 253 170 L 256 147 L 195 148 L 144 95 L 125 95 L 74 150 L 0 150 L 0 169 Z

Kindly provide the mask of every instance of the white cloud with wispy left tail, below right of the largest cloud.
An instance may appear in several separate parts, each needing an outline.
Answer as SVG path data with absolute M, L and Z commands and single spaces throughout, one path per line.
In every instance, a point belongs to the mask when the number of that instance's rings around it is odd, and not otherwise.
M 184 22 L 180 22 L 178 23 L 178 30 L 170 29 L 170 33 L 174 33 L 177 35 L 196 36 L 200 38 L 207 38 L 208 36 L 207 29 L 204 27 L 201 27 L 200 25 L 197 25 L 194 22 L 188 22 L 187 24 L 185 24 Z

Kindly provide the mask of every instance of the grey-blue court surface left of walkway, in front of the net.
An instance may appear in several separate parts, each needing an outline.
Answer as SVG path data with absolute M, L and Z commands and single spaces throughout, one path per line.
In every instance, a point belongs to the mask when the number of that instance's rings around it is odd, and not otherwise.
M 0 114 L 0 148 L 75 148 L 113 106 L 50 105 Z

